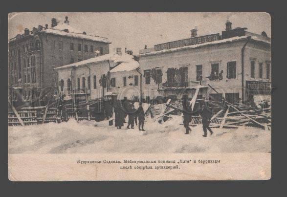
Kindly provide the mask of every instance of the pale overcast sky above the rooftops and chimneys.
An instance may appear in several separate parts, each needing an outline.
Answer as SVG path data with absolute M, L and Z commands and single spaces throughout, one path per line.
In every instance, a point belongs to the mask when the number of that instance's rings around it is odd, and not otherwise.
M 24 28 L 32 30 L 39 24 L 51 27 L 51 18 L 60 22 L 68 16 L 70 25 L 89 35 L 107 37 L 115 47 L 127 47 L 133 54 L 139 49 L 155 44 L 190 37 L 195 26 L 198 35 L 220 33 L 229 19 L 232 28 L 247 27 L 247 31 L 271 37 L 271 19 L 267 13 L 11 13 L 9 39 L 23 34 Z

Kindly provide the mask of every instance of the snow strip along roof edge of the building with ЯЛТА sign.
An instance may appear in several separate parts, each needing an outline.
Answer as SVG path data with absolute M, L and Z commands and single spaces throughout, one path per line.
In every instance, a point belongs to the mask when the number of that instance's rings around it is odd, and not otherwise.
M 236 36 L 236 37 L 232 37 L 232 38 L 228 38 L 228 39 L 222 39 L 222 40 L 213 41 L 213 42 L 206 42 L 206 43 L 202 43 L 202 44 L 194 44 L 194 45 L 187 45 L 187 46 L 182 46 L 182 47 L 176 47 L 176 48 L 170 48 L 170 49 L 163 49 L 163 50 L 153 51 L 153 52 L 149 52 L 149 53 L 140 54 L 140 56 L 171 52 L 171 51 L 176 51 L 176 50 L 181 50 L 181 49 L 197 48 L 197 47 L 200 47 L 200 46 L 211 45 L 211 44 L 228 43 L 228 42 L 233 42 L 233 41 L 246 39 L 247 37 L 248 36 Z M 261 41 L 261 42 L 264 42 L 264 43 L 267 43 L 267 44 L 271 44 L 269 41 L 261 40 L 261 39 L 259 39 L 256 36 L 251 36 L 251 39 L 255 40 L 255 41 Z

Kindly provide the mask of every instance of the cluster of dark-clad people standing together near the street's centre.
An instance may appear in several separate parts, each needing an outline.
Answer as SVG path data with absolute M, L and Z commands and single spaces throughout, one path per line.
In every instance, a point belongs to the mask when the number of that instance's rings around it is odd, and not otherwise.
M 125 118 L 128 115 L 128 126 L 127 126 L 128 129 L 134 129 L 134 123 L 135 123 L 136 126 L 138 125 L 139 131 L 145 131 L 144 130 L 145 112 L 141 103 L 139 104 L 138 109 L 135 109 L 134 105 L 123 106 L 121 102 L 117 102 L 114 105 L 114 113 L 115 113 L 114 126 L 117 129 L 122 129 L 125 123 Z

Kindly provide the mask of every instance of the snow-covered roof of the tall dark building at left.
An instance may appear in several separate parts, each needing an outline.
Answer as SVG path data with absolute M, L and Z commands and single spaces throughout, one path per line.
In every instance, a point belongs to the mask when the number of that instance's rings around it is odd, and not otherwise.
M 65 29 L 67 29 L 68 32 L 64 31 Z M 43 29 L 40 32 L 62 35 L 62 36 L 69 36 L 69 37 L 76 37 L 76 38 L 98 41 L 98 42 L 103 42 L 103 43 L 110 43 L 107 38 L 100 37 L 100 36 L 93 36 L 93 35 L 85 35 L 83 34 L 83 31 L 77 30 L 74 27 L 66 23 L 59 24 L 53 28 Z

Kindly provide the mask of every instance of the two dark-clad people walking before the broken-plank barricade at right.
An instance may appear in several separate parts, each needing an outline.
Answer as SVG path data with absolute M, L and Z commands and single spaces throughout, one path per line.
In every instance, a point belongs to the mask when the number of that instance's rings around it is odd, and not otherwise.
M 191 131 L 189 123 L 191 122 L 192 119 L 192 109 L 189 103 L 187 102 L 186 97 L 182 99 L 182 106 L 183 106 L 183 125 L 185 128 L 185 134 L 189 134 L 189 131 Z M 202 129 L 204 132 L 202 136 L 203 137 L 207 136 L 207 130 L 210 132 L 210 135 L 212 135 L 213 131 L 209 127 L 212 118 L 212 109 L 209 109 L 206 105 L 202 105 L 200 116 L 202 119 Z

